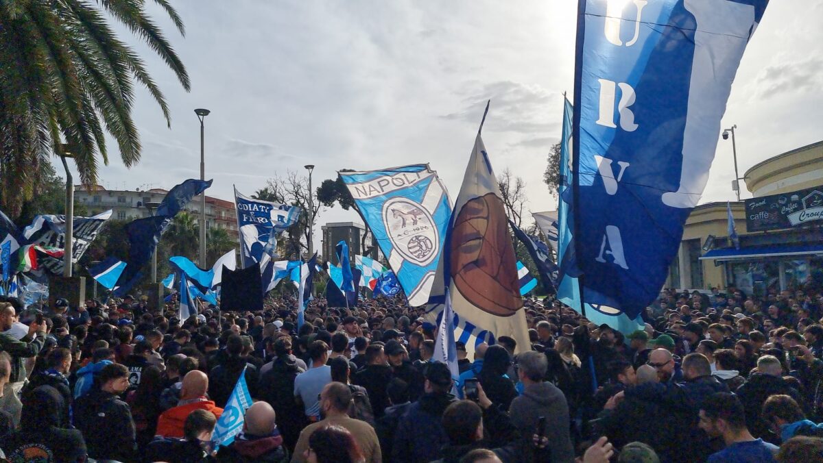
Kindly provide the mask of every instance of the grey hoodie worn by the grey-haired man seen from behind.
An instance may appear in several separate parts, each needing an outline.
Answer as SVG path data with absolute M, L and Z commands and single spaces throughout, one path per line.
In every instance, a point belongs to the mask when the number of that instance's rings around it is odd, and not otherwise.
M 574 449 L 569 433 L 569 405 L 563 392 L 551 382 L 528 385 L 523 390 L 523 395 L 512 400 L 509 407 L 512 424 L 518 428 L 528 444 L 532 441 L 532 435 L 537 432 L 537 422 L 541 416 L 546 417 L 546 438 L 549 438 L 551 461 L 574 461 Z

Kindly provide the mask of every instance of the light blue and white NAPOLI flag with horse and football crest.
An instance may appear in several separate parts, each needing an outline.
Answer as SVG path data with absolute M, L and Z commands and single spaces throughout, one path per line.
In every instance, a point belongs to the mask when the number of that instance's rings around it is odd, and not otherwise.
M 435 281 L 452 207 L 428 164 L 340 172 L 412 307 L 425 305 Z

